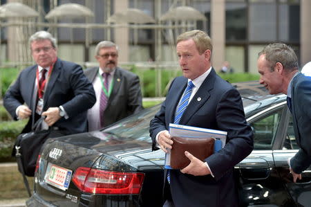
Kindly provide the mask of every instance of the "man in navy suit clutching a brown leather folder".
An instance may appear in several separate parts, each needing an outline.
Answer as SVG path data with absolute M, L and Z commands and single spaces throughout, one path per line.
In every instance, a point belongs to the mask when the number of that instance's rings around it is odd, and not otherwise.
M 169 123 L 226 131 L 227 143 L 205 161 L 187 151 L 180 154 L 191 163 L 182 170 L 169 170 L 164 206 L 238 206 L 234 165 L 253 149 L 253 133 L 245 120 L 241 96 L 211 67 L 211 39 L 206 33 L 201 30 L 183 33 L 177 38 L 176 51 L 183 77 L 173 80 L 160 111 L 151 120 L 153 150 L 160 147 L 167 152 L 172 148 Z M 189 104 L 180 116 L 179 106 L 184 102 L 187 84 L 194 86 Z M 167 177 L 167 170 L 165 174 Z

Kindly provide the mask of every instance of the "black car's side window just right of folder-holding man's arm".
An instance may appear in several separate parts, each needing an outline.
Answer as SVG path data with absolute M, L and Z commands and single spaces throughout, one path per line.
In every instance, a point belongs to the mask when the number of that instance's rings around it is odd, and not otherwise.
M 272 150 L 281 114 L 281 109 L 273 111 L 250 124 L 254 131 L 254 150 Z

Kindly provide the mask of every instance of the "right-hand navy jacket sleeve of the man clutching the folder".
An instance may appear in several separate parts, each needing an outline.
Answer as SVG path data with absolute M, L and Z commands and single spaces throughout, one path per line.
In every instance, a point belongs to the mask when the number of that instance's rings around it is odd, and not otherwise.
M 227 143 L 205 161 L 218 180 L 253 150 L 253 132 L 246 123 L 241 96 L 236 89 L 227 91 L 220 98 L 216 108 L 216 122 L 219 129 L 228 133 Z

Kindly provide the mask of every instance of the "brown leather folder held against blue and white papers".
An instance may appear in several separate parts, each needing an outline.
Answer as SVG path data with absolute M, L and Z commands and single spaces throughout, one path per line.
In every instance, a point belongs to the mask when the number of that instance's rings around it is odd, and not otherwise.
M 190 152 L 200 161 L 204 161 L 208 156 L 214 153 L 215 139 L 208 138 L 193 138 L 172 136 L 173 141 L 171 149 L 171 168 L 182 169 L 189 165 L 190 160 L 185 156 L 185 151 Z

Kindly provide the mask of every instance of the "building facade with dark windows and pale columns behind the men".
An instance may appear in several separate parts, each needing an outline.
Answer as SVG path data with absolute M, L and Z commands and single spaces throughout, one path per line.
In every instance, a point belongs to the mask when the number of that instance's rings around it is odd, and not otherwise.
M 1 1 L 1 3 L 10 2 Z M 28 0 L 20 2 L 38 10 L 40 17 L 32 21 L 46 22 L 44 15 L 64 3 L 79 3 L 94 12 L 94 17 L 54 19 L 49 23 L 69 23 L 72 27 L 37 26 L 47 29 L 59 43 L 59 56 L 83 64 L 95 62 L 95 45 L 109 39 L 120 47 L 120 62 L 176 62 L 175 39 L 185 30 L 198 28 L 211 36 L 214 50 L 212 62 L 219 71 L 228 61 L 236 72 L 257 73 L 257 54 L 272 42 L 290 44 L 299 55 L 300 65 L 311 61 L 311 1 L 308 0 Z M 162 21 L 170 9 L 189 6 L 207 20 Z M 156 24 L 113 24 L 107 19 L 116 12 L 138 8 L 156 20 Z M 75 25 L 93 24 L 75 28 Z M 95 26 L 97 24 L 97 26 Z M 158 26 L 158 27 L 157 27 Z M 175 27 L 174 27 L 175 26 Z M 3 28 L 1 53 L 9 61 L 18 61 L 16 33 Z M 29 30 L 29 28 L 28 28 Z

